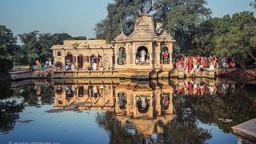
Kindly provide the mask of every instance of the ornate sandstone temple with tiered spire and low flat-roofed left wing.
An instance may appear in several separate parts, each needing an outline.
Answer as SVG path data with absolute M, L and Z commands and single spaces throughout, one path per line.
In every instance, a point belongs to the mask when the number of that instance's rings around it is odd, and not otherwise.
M 54 74 L 131 78 L 156 77 L 161 71 L 168 77 L 173 69 L 173 42 L 166 30 L 157 34 L 150 14 L 139 14 L 132 34 L 122 32 L 111 44 L 105 40 L 66 40 L 64 45 L 53 46 Z

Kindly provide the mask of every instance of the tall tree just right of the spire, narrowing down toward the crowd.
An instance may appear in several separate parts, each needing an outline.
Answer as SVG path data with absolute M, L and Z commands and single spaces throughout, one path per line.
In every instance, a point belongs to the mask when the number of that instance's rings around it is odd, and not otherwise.
M 170 10 L 163 18 L 166 30 L 174 36 L 175 48 L 182 54 L 188 54 L 188 47 L 192 42 L 196 27 L 210 18 L 210 9 L 206 8 L 205 0 L 187 1 L 176 0 L 170 2 Z

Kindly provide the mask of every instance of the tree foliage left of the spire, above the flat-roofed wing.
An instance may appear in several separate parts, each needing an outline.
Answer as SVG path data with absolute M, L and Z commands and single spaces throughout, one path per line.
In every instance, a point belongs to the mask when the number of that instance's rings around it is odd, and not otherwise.
M 115 0 L 107 6 L 107 16 L 95 26 L 96 38 L 113 40 L 123 30 L 130 34 L 139 13 L 150 13 L 154 10 L 156 0 Z

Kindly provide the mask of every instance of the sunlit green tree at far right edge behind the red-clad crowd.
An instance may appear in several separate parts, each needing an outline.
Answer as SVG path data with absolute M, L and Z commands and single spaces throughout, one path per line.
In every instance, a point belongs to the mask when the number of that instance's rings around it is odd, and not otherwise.
M 248 59 L 254 59 L 256 39 L 256 19 L 254 13 L 241 12 L 232 17 L 226 15 L 218 19 L 214 42 L 214 54 L 234 58 L 241 66 Z

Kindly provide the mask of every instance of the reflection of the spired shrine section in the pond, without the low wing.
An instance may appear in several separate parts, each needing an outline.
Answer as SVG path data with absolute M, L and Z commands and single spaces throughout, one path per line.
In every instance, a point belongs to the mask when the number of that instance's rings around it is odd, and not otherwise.
M 172 93 L 169 85 L 153 89 L 140 83 L 116 86 L 116 118 L 122 126 L 134 126 L 145 138 L 162 133 L 157 122 L 166 124 L 174 118 Z

